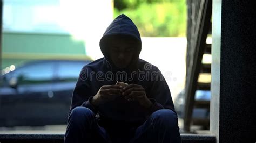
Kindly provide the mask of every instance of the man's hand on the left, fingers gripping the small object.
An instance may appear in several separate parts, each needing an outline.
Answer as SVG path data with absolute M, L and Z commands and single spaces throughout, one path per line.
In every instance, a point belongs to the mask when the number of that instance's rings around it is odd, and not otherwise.
M 98 106 L 107 101 L 112 101 L 117 96 L 122 94 L 122 86 L 119 85 L 105 85 L 100 87 L 98 93 L 92 98 L 92 105 Z

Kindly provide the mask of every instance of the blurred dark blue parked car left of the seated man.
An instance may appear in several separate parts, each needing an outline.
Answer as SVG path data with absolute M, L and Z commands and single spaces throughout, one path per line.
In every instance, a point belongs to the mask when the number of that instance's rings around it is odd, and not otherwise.
M 89 62 L 32 61 L 2 75 L 0 126 L 66 124 L 80 70 Z

